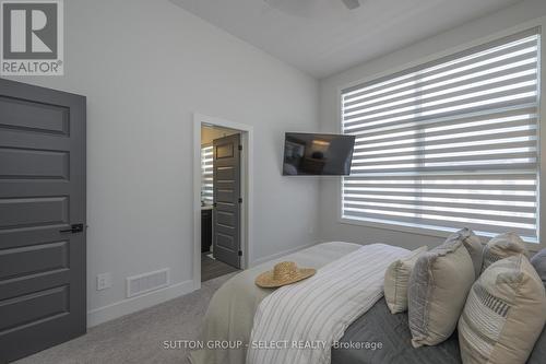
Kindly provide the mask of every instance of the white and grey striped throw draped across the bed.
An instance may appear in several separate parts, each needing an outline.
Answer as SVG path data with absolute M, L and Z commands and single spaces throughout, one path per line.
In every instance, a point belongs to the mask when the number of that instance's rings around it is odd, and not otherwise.
M 330 363 L 331 347 L 383 294 L 387 267 L 408 251 L 366 245 L 276 290 L 254 316 L 247 364 Z

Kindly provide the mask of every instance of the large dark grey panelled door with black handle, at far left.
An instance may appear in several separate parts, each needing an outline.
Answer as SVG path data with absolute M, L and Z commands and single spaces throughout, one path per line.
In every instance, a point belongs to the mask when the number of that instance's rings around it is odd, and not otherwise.
M 0 363 L 85 333 L 85 97 L 0 79 Z

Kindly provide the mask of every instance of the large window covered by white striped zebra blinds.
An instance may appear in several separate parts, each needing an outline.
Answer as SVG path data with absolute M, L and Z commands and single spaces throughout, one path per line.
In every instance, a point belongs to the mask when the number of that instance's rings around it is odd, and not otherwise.
M 342 218 L 537 242 L 537 30 L 342 92 Z

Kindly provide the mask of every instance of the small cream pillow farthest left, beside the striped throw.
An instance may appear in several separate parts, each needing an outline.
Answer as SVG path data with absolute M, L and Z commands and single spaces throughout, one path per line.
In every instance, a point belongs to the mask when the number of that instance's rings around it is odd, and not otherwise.
M 415 249 L 407 257 L 396 259 L 387 268 L 384 272 L 384 300 L 392 314 L 407 310 L 410 274 L 412 274 L 417 258 L 427 249 L 426 246 Z

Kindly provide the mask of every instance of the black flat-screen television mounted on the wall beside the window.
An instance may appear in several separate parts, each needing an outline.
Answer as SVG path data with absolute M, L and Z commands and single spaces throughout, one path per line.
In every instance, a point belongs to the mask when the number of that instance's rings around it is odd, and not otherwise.
M 348 175 L 354 146 L 354 136 L 287 132 L 283 175 Z

